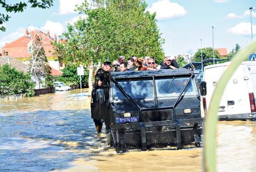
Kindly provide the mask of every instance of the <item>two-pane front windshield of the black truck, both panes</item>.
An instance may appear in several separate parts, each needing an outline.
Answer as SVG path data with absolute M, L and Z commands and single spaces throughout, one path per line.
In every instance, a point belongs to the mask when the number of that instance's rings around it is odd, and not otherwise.
M 168 99 L 177 99 L 182 92 L 185 84 L 189 81 L 189 77 L 170 77 L 170 78 L 156 78 L 156 96 L 158 99 L 161 97 L 168 97 Z M 154 99 L 154 89 L 152 79 L 118 81 L 121 87 L 131 96 L 132 99 Z M 197 96 L 198 90 L 196 83 L 193 79 L 188 83 L 183 95 Z M 113 86 L 113 100 L 124 100 L 126 97 L 118 89 L 117 85 Z

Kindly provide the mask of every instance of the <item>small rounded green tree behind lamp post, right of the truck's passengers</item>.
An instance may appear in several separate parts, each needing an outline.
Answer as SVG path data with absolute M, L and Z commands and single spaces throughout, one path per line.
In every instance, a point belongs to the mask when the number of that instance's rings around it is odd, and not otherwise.
M 213 52 L 211 47 L 202 48 L 202 59 L 210 59 L 213 58 Z M 214 58 L 219 59 L 219 52 L 217 50 L 214 50 Z M 201 62 L 201 48 L 197 50 L 197 52 L 194 54 L 193 61 L 195 62 Z

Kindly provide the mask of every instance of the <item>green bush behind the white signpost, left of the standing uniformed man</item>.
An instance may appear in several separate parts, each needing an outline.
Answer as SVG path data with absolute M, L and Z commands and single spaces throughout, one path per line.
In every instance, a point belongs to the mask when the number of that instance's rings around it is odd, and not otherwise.
M 77 67 L 68 65 L 62 70 L 62 75 L 57 78 L 57 81 L 65 82 L 67 85 L 80 85 L 80 76 L 77 75 Z M 82 76 L 82 85 L 88 85 L 89 71 L 84 69 L 84 76 Z

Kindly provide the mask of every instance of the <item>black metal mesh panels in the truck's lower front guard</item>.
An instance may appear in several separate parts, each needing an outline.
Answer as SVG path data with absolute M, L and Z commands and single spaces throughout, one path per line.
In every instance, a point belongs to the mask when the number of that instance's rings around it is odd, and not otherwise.
M 117 152 L 142 148 L 142 135 L 139 127 L 111 129 L 111 133 L 113 136 L 113 144 Z M 147 149 L 165 148 L 167 146 L 175 148 L 175 146 L 177 146 L 176 128 L 173 125 L 146 126 L 145 133 Z M 201 134 L 202 126 L 195 129 L 193 127 L 181 128 L 183 148 L 198 146 L 195 142 L 195 136 L 200 140 Z

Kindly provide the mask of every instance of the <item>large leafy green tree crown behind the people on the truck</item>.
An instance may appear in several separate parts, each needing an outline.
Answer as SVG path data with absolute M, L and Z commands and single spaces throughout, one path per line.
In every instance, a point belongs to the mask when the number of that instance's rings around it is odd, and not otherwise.
M 60 56 L 68 62 L 85 65 L 132 55 L 162 61 L 164 39 L 155 14 L 146 11 L 147 4 L 134 0 L 106 2 L 106 9 L 100 5 L 89 8 L 87 3 L 78 7 L 79 13 L 88 17 L 78 20 L 74 26 L 68 25 L 62 36 L 64 44 L 55 42 Z

